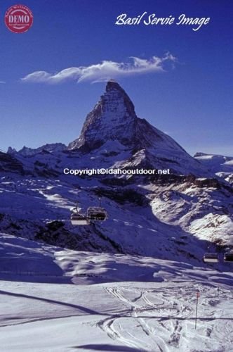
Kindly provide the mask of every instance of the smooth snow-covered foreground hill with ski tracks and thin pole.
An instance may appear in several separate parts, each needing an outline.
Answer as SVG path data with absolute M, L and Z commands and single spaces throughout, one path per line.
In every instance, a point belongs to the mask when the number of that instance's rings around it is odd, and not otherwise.
M 6 234 L 0 251 L 3 352 L 232 351 L 232 272 Z

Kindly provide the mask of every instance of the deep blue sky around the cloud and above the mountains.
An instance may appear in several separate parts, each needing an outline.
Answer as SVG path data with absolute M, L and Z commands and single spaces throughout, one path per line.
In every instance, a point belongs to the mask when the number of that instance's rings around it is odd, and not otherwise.
M 164 73 L 119 77 L 135 111 L 171 135 L 189 153 L 233 155 L 232 13 L 229 0 L 24 0 L 34 25 L 24 34 L 4 24 L 0 4 L 0 149 L 21 149 L 78 137 L 105 83 L 23 83 L 34 71 L 56 73 L 103 60 L 127 62 L 170 51 L 178 58 Z M 210 17 L 197 32 L 189 26 L 116 26 L 116 16 L 147 11 L 158 17 L 185 13 Z

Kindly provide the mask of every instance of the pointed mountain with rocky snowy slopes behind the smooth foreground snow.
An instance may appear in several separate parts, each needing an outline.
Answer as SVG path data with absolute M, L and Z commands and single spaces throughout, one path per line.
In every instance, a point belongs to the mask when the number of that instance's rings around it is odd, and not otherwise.
M 62 144 L 0 153 L 3 232 L 88 251 L 201 263 L 211 245 L 232 246 L 232 187 L 171 137 L 135 115 L 110 81 L 81 135 Z M 64 175 L 67 169 L 160 168 L 169 175 Z M 214 171 L 214 170 L 213 170 Z M 73 227 L 70 209 L 99 204 L 108 220 Z M 217 246 L 217 247 L 216 247 Z

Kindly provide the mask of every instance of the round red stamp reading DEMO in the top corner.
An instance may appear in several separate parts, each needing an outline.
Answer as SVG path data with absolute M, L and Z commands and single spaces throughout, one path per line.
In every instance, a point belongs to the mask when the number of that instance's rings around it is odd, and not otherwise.
M 5 23 L 11 32 L 27 32 L 33 23 L 32 11 L 25 5 L 13 5 L 5 13 Z

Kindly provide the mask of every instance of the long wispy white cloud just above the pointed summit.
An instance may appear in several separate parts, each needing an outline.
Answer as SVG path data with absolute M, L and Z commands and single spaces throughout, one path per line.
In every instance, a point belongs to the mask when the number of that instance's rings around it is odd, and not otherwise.
M 102 61 L 90 66 L 65 68 L 58 73 L 52 74 L 46 71 L 35 71 L 23 77 L 22 82 L 60 83 L 68 80 L 76 82 L 91 81 L 99 82 L 122 76 L 130 76 L 143 73 L 156 73 L 164 71 L 166 63 L 174 63 L 175 56 L 166 53 L 163 57 L 137 58 L 132 56 L 126 63 L 114 61 Z M 173 67 L 173 66 L 172 66 Z

